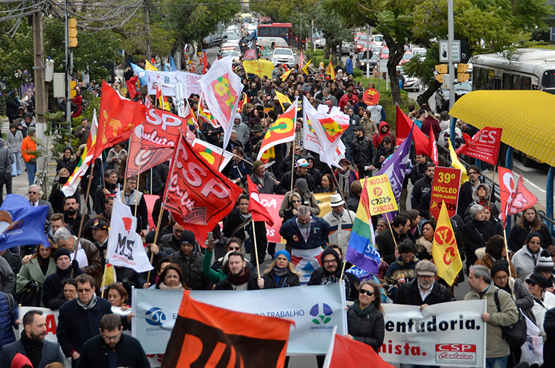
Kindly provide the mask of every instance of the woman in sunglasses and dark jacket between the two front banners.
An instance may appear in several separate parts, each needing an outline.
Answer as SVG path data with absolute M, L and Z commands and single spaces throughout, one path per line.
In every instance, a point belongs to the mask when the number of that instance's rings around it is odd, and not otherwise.
M 385 335 L 380 287 L 373 282 L 362 281 L 358 290 L 358 299 L 347 310 L 349 333 L 345 337 L 370 345 L 378 353 Z

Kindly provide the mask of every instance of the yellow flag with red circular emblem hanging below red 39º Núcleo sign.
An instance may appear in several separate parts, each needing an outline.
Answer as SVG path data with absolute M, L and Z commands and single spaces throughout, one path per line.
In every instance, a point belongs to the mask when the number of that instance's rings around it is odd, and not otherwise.
M 462 269 L 462 260 L 460 260 L 455 232 L 449 221 L 445 201 L 441 202 L 442 206 L 439 210 L 439 219 L 437 219 L 434 244 L 432 245 L 432 257 L 437 267 L 437 275 L 450 286 L 455 282 Z

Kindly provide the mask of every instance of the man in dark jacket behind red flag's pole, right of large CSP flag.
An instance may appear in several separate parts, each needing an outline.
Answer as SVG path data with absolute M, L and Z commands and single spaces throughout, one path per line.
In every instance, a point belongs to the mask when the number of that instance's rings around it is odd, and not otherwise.
M 256 265 L 257 259 L 254 250 L 254 235 L 256 233 L 256 248 L 258 251 L 258 264 L 260 265 L 264 262 L 268 245 L 266 238 L 266 223 L 264 223 L 264 221 L 254 221 L 255 229 L 253 232 L 253 221 L 250 221 L 252 219 L 252 215 L 249 213 L 249 196 L 241 195 L 238 199 L 238 205 L 239 208 L 235 208 L 232 212 L 230 212 L 230 214 L 227 215 L 227 217 L 225 217 L 225 221 L 223 222 L 223 236 L 231 238 L 234 230 L 246 222 L 234 236 L 239 238 L 240 241 L 243 241 L 245 251 L 250 252 L 251 261 Z

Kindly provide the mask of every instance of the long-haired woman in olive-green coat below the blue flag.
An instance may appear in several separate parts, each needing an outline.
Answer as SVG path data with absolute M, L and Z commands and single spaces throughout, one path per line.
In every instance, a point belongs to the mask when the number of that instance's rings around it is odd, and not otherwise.
M 16 293 L 18 294 L 30 289 L 32 284 L 36 282 L 40 290 L 41 307 L 44 306 L 42 303 L 42 288 L 45 280 L 49 275 L 56 272 L 55 251 L 56 247 L 52 245 L 50 247 L 45 247 L 44 244 L 37 245 L 36 252 L 31 260 L 21 267 L 16 276 Z

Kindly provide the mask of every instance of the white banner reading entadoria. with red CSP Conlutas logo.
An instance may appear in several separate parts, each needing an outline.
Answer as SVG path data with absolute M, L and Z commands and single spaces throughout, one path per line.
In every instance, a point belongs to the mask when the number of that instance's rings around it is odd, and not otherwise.
M 312 286 L 310 286 L 312 287 Z M 385 338 L 380 356 L 389 363 L 483 367 L 485 300 L 425 307 L 382 304 Z

